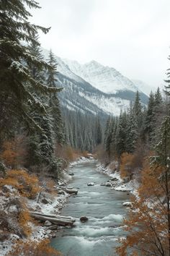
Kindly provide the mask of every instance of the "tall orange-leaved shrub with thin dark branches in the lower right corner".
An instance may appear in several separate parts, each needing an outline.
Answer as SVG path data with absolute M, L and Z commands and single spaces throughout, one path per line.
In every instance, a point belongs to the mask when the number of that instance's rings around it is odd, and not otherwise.
M 139 197 L 132 198 L 135 211 L 130 212 L 128 220 L 125 220 L 125 230 L 130 233 L 120 241 L 118 255 L 169 255 L 169 212 L 165 205 L 162 174 L 163 167 L 151 167 L 145 163 Z

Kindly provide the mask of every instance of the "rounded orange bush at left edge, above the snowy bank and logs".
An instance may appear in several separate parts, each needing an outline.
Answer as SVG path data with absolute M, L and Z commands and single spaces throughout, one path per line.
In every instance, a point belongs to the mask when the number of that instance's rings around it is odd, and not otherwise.
M 40 191 L 37 176 L 29 175 L 24 170 L 9 170 L 6 171 L 4 179 L 0 179 L 0 187 L 11 185 L 17 189 L 20 195 L 34 199 Z

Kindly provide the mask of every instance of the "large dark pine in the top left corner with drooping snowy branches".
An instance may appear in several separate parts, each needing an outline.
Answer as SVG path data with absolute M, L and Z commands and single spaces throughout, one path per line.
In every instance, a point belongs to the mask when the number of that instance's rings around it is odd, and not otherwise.
M 15 3 L 2 0 L 0 3 L 3 24 L 0 41 L 0 101 L 4 103 L 1 116 L 7 115 L 11 119 L 24 121 L 28 127 L 38 127 L 30 116 L 30 106 L 35 106 L 41 112 L 45 112 L 45 106 L 32 92 L 36 91 L 37 95 L 48 95 L 58 89 L 48 88 L 30 75 L 30 64 L 47 69 L 50 67 L 45 61 L 32 56 L 28 46 L 22 45 L 21 42 L 26 41 L 39 46 L 34 35 L 37 30 L 48 33 L 49 29 L 30 24 L 28 18 L 31 14 L 26 7 L 40 8 L 36 1 L 30 0 L 17 0 Z M 4 99 L 7 99 L 7 104 Z M 3 124 L 2 119 L 0 123 Z

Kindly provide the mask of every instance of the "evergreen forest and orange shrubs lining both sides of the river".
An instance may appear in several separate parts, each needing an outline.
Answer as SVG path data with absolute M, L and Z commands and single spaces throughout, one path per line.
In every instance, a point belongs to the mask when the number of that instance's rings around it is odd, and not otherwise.
M 27 202 L 42 190 L 57 197 L 53 187 L 63 169 L 88 150 L 120 171 L 125 182 L 137 179 L 140 184 L 125 220 L 129 233 L 117 253 L 170 255 L 169 78 L 164 96 L 158 88 L 146 107 L 137 92 L 128 111 L 107 116 L 107 121 L 106 116 L 63 109 L 57 63 L 52 51 L 45 61 L 38 40 L 38 31 L 50 28 L 32 25 L 28 8 L 40 7 L 33 0 L 0 1 L 1 249 L 4 242 L 15 241 L 6 254 L 59 255 L 48 240 L 31 239 L 32 226 L 39 224 Z

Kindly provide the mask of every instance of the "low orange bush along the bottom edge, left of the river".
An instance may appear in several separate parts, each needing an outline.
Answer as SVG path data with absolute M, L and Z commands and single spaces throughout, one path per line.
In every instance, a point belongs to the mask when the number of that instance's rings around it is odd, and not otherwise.
M 49 244 L 48 239 L 41 242 L 17 242 L 6 256 L 61 256 L 61 253 Z

